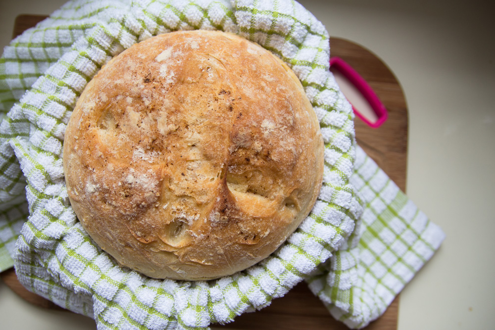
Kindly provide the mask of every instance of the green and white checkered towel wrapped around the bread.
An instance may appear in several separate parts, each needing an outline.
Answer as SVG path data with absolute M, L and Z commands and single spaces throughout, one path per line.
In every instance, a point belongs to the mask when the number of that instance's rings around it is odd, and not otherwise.
M 237 33 L 281 57 L 325 141 L 324 183 L 307 219 L 267 259 L 208 282 L 119 267 L 77 221 L 62 170 L 67 121 L 99 68 L 134 43 L 184 29 Z M 263 308 L 302 280 L 336 318 L 366 326 L 444 234 L 355 146 L 329 56 L 325 28 L 293 0 L 69 1 L 0 58 L 0 270 L 15 264 L 28 289 L 93 317 L 98 329 L 204 329 Z

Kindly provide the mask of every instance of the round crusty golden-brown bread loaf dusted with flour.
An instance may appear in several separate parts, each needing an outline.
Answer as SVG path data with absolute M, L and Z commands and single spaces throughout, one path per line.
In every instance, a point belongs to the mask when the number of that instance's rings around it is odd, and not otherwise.
M 297 229 L 321 187 L 323 140 L 284 62 L 233 34 L 182 31 L 101 68 L 67 125 L 63 166 L 79 221 L 120 265 L 208 280 Z

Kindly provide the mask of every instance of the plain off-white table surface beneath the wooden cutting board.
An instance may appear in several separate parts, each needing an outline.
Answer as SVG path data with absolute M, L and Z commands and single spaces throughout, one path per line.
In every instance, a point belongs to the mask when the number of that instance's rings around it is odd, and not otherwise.
M 0 0 L 0 47 L 21 13 L 65 0 Z M 334 37 L 377 54 L 409 110 L 407 195 L 446 232 L 400 296 L 398 330 L 494 329 L 495 20 L 490 0 L 301 0 Z M 95 329 L 0 281 L 1 329 Z

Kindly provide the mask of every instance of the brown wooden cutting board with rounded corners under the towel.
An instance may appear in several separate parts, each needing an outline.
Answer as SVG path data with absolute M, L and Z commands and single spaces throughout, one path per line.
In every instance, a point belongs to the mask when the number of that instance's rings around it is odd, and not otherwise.
M 33 27 L 46 16 L 19 15 L 15 20 L 13 37 Z M 407 164 L 407 107 L 404 94 L 390 69 L 373 53 L 355 43 L 339 38 L 330 38 L 332 56 L 343 58 L 371 86 L 388 111 L 388 120 L 379 128 L 372 129 L 359 119 L 355 121 L 358 144 L 377 164 L 405 191 Z M 17 280 L 13 269 L 0 274 L 0 278 L 16 294 L 30 303 L 49 309 L 62 309 L 26 290 Z M 372 322 L 367 330 L 396 330 L 398 297 L 385 314 Z M 307 288 L 299 283 L 284 297 L 275 299 L 261 311 L 243 314 L 220 329 L 348 329 L 335 321 Z

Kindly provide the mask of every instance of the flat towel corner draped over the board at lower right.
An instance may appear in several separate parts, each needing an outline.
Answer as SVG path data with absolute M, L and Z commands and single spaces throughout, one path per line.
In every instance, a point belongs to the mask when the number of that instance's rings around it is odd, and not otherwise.
M 365 327 L 382 315 L 445 235 L 359 146 L 350 183 L 364 203 L 357 246 L 342 246 L 306 279 L 338 320 Z

